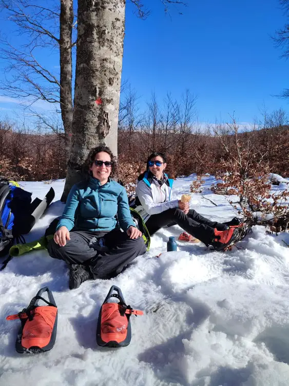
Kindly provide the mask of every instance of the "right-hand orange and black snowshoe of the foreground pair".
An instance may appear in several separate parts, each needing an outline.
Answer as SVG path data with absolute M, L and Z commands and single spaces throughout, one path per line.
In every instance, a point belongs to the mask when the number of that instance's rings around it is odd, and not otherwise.
M 117 293 L 112 293 L 116 291 Z M 119 303 L 108 303 L 110 297 L 117 297 Z M 101 306 L 97 343 L 99 346 L 124 347 L 131 340 L 130 315 L 143 315 L 142 311 L 133 310 L 125 304 L 123 294 L 117 286 L 112 286 Z

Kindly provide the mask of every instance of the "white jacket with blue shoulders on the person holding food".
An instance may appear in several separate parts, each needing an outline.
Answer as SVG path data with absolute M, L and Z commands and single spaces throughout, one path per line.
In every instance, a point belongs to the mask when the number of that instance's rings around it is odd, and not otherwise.
M 136 210 L 146 222 L 151 215 L 157 215 L 170 208 L 178 207 L 178 200 L 171 200 L 171 189 L 174 180 L 167 178 L 160 186 L 150 177 L 147 171 L 136 187 Z

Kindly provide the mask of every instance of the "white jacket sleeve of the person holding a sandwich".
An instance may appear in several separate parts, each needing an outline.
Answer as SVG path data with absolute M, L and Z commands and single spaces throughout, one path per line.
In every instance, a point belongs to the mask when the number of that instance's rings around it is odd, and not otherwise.
M 167 209 L 177 208 L 179 206 L 178 200 L 160 203 L 154 202 L 151 194 L 151 189 L 143 181 L 140 181 L 138 183 L 136 187 L 136 194 L 146 213 L 148 213 L 149 215 L 156 215 L 158 213 L 164 212 Z

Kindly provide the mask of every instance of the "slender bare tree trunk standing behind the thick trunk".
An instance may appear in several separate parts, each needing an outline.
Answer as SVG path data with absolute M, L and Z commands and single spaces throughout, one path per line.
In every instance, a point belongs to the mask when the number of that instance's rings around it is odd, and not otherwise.
M 65 133 L 66 161 L 69 160 L 72 136 L 72 24 L 73 0 L 60 2 L 60 104 Z

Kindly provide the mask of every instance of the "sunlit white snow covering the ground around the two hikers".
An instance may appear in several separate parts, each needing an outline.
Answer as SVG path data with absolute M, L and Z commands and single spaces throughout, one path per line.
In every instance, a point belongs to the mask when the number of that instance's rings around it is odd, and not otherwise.
M 174 198 L 189 192 L 191 180 L 175 182 Z M 206 186 L 214 181 L 207 177 Z M 32 241 L 61 214 L 64 205 L 57 200 L 64 181 L 21 186 L 33 197 L 43 198 L 50 186 L 56 192 L 26 237 Z M 207 190 L 193 194 L 190 207 L 212 220 L 235 216 L 224 196 Z M 0 272 L 0 385 L 287 386 L 289 234 L 268 235 L 256 225 L 230 252 L 177 241 L 178 251 L 167 253 L 168 237 L 180 233 L 178 226 L 159 231 L 150 251 L 118 277 L 87 281 L 72 291 L 64 262 L 46 251 L 14 257 Z M 101 348 L 95 339 L 98 314 L 113 284 L 144 316 L 131 317 L 129 346 Z M 44 354 L 17 354 L 20 321 L 8 322 L 6 315 L 26 307 L 44 286 L 59 309 L 55 346 Z

